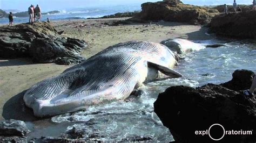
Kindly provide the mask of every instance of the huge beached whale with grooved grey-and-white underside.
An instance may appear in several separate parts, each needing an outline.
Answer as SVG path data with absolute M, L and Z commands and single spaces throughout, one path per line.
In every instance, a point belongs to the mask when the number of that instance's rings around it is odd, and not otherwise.
M 180 45 L 180 50 L 186 51 L 183 49 L 186 46 Z M 176 54 L 162 44 L 147 41 L 117 44 L 58 76 L 33 85 L 23 99 L 38 117 L 123 100 L 133 89 L 158 78 L 160 73 L 182 76 L 171 69 L 177 65 L 177 60 Z

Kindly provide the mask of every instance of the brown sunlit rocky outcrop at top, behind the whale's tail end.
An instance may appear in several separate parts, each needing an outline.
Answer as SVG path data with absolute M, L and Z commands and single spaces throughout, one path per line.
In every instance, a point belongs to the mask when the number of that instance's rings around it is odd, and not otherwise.
M 209 23 L 219 12 L 215 9 L 183 4 L 178 0 L 143 3 L 142 12 L 131 20 L 165 20 L 169 22 L 202 25 Z

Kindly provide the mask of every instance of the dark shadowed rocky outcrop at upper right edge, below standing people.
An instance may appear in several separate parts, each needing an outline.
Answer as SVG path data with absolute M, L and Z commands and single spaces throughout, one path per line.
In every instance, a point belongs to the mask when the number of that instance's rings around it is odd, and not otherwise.
M 215 16 L 210 26 L 210 33 L 232 38 L 256 38 L 256 11 L 228 13 Z

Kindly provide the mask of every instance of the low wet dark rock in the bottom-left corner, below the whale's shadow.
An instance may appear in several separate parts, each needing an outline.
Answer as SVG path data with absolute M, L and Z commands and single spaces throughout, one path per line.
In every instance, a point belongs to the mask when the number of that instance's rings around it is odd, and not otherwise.
M 29 133 L 28 127 L 24 121 L 21 120 L 1 120 L 0 121 L 0 135 L 1 136 L 18 136 L 22 137 Z

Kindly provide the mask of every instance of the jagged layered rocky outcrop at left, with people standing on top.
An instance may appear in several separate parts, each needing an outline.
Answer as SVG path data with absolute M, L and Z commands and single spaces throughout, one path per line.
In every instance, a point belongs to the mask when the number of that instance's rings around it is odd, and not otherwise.
M 39 63 L 56 62 L 60 65 L 70 65 L 84 60 L 79 52 L 86 47 L 83 40 L 61 37 L 55 28 L 46 22 L 0 27 L 2 58 L 29 57 Z

